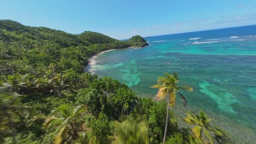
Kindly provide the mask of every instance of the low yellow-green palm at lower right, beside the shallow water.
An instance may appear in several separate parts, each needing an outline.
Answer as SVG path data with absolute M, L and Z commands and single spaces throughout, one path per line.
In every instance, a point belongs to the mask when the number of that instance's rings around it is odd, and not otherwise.
M 212 131 L 216 135 L 223 136 L 222 132 L 217 129 L 217 127 L 211 127 L 210 122 L 212 121 L 211 118 L 207 118 L 205 112 L 200 111 L 199 115 L 196 115 L 193 113 L 187 113 L 187 117 L 184 118 L 184 121 L 187 122 L 188 124 L 193 124 L 195 125 L 194 128 L 192 129 L 195 137 L 197 139 L 202 139 L 202 133 L 204 133 L 208 139 L 211 140 L 211 143 L 214 143 L 213 138 L 209 131 Z

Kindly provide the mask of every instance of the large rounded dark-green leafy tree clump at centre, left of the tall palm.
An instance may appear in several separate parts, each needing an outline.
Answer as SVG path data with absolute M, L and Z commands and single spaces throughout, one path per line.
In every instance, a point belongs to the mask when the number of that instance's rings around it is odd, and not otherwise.
M 80 89 L 76 104 L 84 104 L 94 116 L 103 112 L 109 119 L 128 115 L 136 105 L 135 93 L 126 85 L 107 77 L 90 82 L 89 88 Z

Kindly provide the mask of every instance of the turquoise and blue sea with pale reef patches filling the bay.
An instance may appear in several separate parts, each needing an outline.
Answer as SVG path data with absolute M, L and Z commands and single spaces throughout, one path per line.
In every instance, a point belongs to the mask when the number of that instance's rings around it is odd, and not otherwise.
M 256 25 L 146 38 L 150 46 L 114 50 L 95 58 L 90 73 L 126 83 L 141 97 L 154 97 L 158 76 L 178 73 L 188 106 L 179 117 L 205 110 L 237 141 L 256 141 Z M 181 110 L 182 109 L 182 110 Z

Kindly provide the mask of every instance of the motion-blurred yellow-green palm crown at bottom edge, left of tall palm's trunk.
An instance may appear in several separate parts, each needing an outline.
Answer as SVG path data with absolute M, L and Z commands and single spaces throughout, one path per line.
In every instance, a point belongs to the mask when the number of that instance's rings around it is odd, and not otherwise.
M 124 122 L 114 122 L 117 143 L 149 143 L 148 125 L 145 122 L 135 123 L 126 119 Z

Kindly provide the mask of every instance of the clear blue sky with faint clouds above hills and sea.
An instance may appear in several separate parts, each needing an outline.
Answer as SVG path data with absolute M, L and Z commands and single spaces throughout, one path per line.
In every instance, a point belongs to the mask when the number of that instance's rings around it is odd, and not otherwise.
M 117 39 L 256 24 L 256 1 L 0 0 L 0 19 Z

